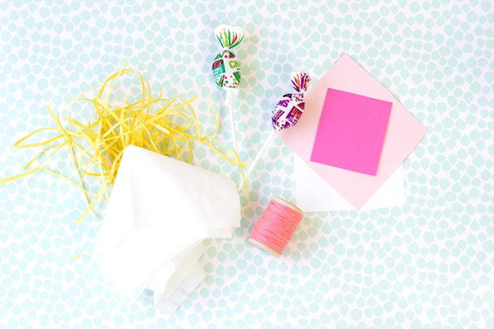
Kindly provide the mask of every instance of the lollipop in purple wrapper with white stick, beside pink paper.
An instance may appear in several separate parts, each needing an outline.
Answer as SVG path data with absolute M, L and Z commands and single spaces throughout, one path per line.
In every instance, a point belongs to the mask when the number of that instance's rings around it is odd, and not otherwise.
M 246 172 L 246 179 L 251 174 L 255 165 L 258 163 L 261 155 L 265 152 L 267 146 L 270 145 L 272 140 L 277 135 L 277 132 L 283 129 L 291 128 L 299 122 L 300 117 L 303 114 L 305 102 L 303 101 L 303 92 L 306 92 L 309 83 L 311 83 L 311 77 L 303 71 L 291 73 L 291 85 L 295 92 L 291 94 L 283 95 L 282 99 L 277 102 L 275 109 L 271 112 L 271 124 L 274 129 L 270 136 L 260 148 L 258 155 L 255 156 L 251 166 Z M 243 181 L 239 183 L 239 189 L 243 186 Z

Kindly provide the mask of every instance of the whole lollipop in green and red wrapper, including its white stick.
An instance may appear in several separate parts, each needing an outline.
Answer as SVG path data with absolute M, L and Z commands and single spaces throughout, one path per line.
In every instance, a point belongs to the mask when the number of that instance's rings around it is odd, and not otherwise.
M 239 93 L 237 87 L 241 79 L 241 64 L 231 49 L 241 44 L 245 35 L 241 28 L 223 24 L 215 28 L 215 35 L 223 50 L 216 55 L 215 61 L 212 63 L 212 75 L 215 77 L 216 84 L 227 92 L 226 103 L 230 114 L 231 136 L 234 150 L 238 152 L 233 103 Z

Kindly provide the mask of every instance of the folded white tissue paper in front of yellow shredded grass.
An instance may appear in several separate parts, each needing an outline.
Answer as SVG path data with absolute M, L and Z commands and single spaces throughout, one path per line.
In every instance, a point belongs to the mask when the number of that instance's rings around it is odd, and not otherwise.
M 155 306 L 171 314 L 205 277 L 201 241 L 231 237 L 240 217 L 231 179 L 128 146 L 93 259 L 123 294 L 150 289 Z

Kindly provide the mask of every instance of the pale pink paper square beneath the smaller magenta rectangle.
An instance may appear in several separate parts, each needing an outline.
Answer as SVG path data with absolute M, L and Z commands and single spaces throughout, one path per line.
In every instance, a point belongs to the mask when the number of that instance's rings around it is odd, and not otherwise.
M 327 88 L 353 92 L 393 103 L 382 145 L 378 172 L 375 176 L 311 162 L 311 153 Z M 305 102 L 305 110 L 299 123 L 290 129 L 281 131 L 279 136 L 321 178 L 325 179 L 358 210 L 426 135 L 426 127 L 415 119 L 384 85 L 356 64 L 348 54 L 344 54 L 330 68 L 330 71 L 327 71 L 307 92 Z

